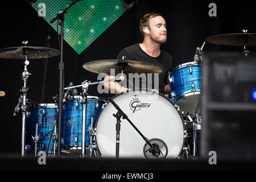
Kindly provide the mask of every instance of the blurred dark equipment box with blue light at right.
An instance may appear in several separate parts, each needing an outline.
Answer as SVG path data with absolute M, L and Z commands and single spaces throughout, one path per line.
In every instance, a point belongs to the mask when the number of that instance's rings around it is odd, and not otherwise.
M 256 56 L 208 52 L 203 56 L 200 156 L 256 159 Z

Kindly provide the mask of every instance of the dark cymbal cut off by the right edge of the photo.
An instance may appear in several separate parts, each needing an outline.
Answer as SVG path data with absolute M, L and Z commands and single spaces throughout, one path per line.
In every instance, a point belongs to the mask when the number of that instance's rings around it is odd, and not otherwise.
M 256 34 L 222 34 L 206 38 L 207 42 L 225 46 L 256 46 Z

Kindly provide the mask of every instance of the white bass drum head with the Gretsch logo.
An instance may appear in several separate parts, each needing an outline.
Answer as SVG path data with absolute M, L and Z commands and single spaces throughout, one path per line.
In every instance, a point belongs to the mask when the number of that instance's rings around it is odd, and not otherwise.
M 133 122 L 144 137 L 161 139 L 167 144 L 166 158 L 178 158 L 184 146 L 184 123 L 172 101 L 153 90 L 126 90 L 113 101 Z M 108 102 L 98 116 L 96 131 L 97 151 L 104 158 L 115 158 L 115 124 L 117 109 Z M 146 142 L 126 119 L 121 119 L 119 158 L 145 158 Z M 165 154 L 163 154 L 165 155 Z

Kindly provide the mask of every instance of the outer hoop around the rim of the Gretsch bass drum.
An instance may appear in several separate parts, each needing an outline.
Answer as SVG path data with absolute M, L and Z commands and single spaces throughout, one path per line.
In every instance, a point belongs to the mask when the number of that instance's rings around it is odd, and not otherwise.
M 167 101 L 169 101 L 169 102 L 174 106 L 174 108 L 176 109 L 174 102 L 172 102 L 170 99 L 168 99 L 166 96 L 164 96 L 164 94 L 158 92 L 157 90 L 150 90 L 150 89 L 127 89 L 127 90 L 124 90 L 124 91 L 121 92 L 121 93 L 116 94 L 114 97 L 112 97 L 112 99 L 114 99 L 114 98 L 120 96 L 121 94 L 129 93 L 130 91 L 134 92 L 134 91 L 138 91 L 138 90 L 139 90 L 139 91 L 145 91 L 145 92 L 157 93 L 157 94 L 159 94 L 160 96 L 162 96 L 163 98 L 165 98 Z M 110 103 L 110 101 L 106 102 L 105 104 L 108 105 L 109 103 Z M 111 104 L 111 103 L 110 103 L 110 104 Z M 102 107 L 102 109 L 101 109 L 101 111 L 100 111 L 100 114 L 98 114 L 98 118 L 97 118 L 97 121 L 96 121 L 95 127 L 94 127 L 94 129 L 96 129 L 96 136 L 95 136 L 96 150 L 97 150 L 97 152 L 100 154 L 100 156 L 101 156 L 102 158 L 104 158 L 104 156 L 101 154 L 100 148 L 98 148 L 98 144 L 97 144 L 97 126 L 98 126 L 98 119 L 100 118 L 101 113 L 102 113 L 103 110 L 104 110 L 104 107 Z M 181 121 L 182 121 L 182 126 L 183 126 L 183 131 L 184 131 L 184 135 L 185 135 L 185 133 L 187 133 L 187 131 L 185 131 L 185 125 L 184 125 L 183 116 L 181 115 L 180 111 L 178 111 L 177 109 L 176 109 L 176 111 L 177 111 L 177 113 L 179 113 L 179 115 L 180 115 L 180 119 L 181 119 Z M 134 130 L 135 130 L 135 129 L 134 129 Z M 144 136 L 144 137 L 147 137 L 147 136 Z M 179 156 L 182 154 L 184 143 L 185 143 L 185 136 L 183 137 L 183 144 L 182 144 L 181 150 L 180 150 L 180 152 L 179 152 L 179 155 L 177 155 L 177 157 L 179 157 Z

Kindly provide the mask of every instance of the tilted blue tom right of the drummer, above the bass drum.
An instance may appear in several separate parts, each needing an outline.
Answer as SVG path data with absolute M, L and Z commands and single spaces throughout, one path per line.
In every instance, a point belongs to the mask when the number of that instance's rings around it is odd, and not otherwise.
M 186 113 L 195 113 L 200 102 L 201 65 L 189 62 L 178 65 L 168 73 L 172 101 Z

